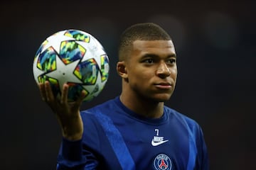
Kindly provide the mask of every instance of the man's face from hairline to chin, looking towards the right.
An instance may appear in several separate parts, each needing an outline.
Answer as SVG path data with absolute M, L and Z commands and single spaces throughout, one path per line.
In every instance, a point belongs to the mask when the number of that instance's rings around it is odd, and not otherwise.
M 136 40 L 124 62 L 127 91 L 136 97 L 167 101 L 174 92 L 177 65 L 171 40 Z

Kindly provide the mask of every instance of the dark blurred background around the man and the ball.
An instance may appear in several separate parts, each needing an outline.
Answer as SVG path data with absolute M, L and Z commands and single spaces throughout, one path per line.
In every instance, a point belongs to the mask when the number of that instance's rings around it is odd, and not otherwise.
M 95 36 L 110 57 L 110 78 L 82 109 L 119 95 L 117 41 L 128 26 L 154 22 L 174 40 L 176 91 L 166 105 L 202 126 L 210 169 L 256 169 L 255 1 L 1 1 L 0 169 L 55 169 L 60 128 L 41 101 L 33 57 L 68 28 Z

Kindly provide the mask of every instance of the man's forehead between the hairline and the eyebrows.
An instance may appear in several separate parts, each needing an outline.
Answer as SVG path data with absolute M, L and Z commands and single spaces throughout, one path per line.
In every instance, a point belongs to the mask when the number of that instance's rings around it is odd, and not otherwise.
M 174 43 L 171 40 L 135 40 L 133 51 L 142 54 L 176 55 Z

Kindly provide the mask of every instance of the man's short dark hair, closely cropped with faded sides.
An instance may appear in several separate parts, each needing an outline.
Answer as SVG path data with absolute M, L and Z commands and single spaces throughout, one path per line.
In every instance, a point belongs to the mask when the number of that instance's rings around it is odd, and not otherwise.
M 122 33 L 119 41 L 119 61 L 127 59 L 127 50 L 130 50 L 135 40 L 171 40 L 166 31 L 156 23 L 137 23 Z

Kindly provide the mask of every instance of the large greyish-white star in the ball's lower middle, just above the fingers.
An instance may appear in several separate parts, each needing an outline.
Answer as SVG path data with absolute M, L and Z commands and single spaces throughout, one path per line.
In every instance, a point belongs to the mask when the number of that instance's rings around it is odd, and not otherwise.
M 53 79 L 58 79 L 60 89 L 62 89 L 63 84 L 68 82 L 82 84 L 82 81 L 80 81 L 80 79 L 78 79 L 78 77 L 73 74 L 73 70 L 75 70 L 75 67 L 77 66 L 79 61 L 80 60 L 71 62 L 70 64 L 64 64 L 59 57 L 56 57 L 57 69 L 53 72 L 49 72 L 48 74 L 46 74 L 46 76 L 52 77 Z

